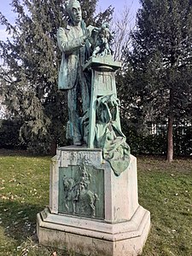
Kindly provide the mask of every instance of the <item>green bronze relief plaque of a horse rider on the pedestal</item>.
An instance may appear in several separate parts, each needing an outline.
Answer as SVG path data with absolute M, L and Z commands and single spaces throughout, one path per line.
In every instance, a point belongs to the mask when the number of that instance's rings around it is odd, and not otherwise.
M 104 218 L 104 171 L 83 162 L 59 170 L 59 212 Z

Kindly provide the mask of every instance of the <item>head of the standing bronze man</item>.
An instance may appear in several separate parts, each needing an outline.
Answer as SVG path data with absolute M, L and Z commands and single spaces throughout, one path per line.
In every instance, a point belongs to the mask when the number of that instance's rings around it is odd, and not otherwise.
M 69 0 L 67 2 L 67 13 L 74 25 L 78 25 L 82 20 L 82 12 L 79 1 Z

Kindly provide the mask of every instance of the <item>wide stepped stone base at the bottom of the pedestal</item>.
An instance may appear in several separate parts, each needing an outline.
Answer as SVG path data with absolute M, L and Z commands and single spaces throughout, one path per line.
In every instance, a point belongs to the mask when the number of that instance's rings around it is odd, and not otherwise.
M 129 221 L 108 224 L 88 218 L 38 213 L 38 239 L 45 246 L 67 247 L 91 256 L 135 256 L 142 253 L 150 229 L 150 213 L 138 207 Z

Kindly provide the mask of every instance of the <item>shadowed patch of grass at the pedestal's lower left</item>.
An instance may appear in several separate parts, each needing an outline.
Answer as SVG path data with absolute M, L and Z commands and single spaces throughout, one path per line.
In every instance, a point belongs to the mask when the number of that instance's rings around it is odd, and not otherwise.
M 57 247 L 38 244 L 36 219 L 38 212 L 42 210 L 43 208 L 38 205 L 29 205 L 18 201 L 0 202 L 0 218 L 2 221 L 0 225 L 4 229 L 4 235 L 8 239 L 15 240 L 12 246 L 6 247 L 6 251 L 0 251 L 0 255 L 83 256 L 81 253 L 73 252 L 73 250 L 67 250 L 67 247 L 58 249 Z

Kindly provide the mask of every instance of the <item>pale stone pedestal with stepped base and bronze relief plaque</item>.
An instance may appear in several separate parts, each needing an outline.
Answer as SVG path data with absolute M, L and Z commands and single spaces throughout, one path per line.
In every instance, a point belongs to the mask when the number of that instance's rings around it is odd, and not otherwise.
M 138 204 L 134 156 L 117 177 L 102 149 L 57 149 L 49 207 L 38 213 L 41 244 L 92 256 L 139 255 L 149 228 L 150 213 Z

